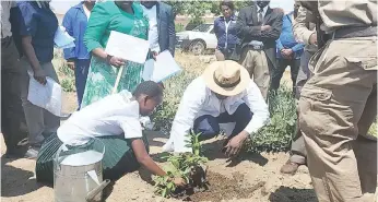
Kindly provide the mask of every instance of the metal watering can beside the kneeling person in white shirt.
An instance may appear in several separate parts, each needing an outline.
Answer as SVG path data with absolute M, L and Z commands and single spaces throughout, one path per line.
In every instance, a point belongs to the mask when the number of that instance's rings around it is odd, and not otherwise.
M 102 161 L 105 146 L 98 139 L 84 144 L 62 144 L 54 161 L 54 190 L 56 202 L 99 202 L 103 189 Z

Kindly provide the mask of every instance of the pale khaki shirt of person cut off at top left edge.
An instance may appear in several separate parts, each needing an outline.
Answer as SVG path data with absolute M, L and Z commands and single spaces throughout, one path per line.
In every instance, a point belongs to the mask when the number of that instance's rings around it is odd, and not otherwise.
M 12 36 L 11 22 L 9 21 L 9 17 L 11 15 L 11 8 L 13 7 L 16 7 L 15 1 L 1 1 L 1 38 Z

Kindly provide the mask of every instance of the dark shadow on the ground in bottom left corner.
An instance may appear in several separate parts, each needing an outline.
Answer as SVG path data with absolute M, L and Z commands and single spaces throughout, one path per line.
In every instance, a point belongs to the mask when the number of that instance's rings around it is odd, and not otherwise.
M 10 162 L 12 159 L 1 157 L 1 197 L 24 195 L 43 187 L 33 177 L 33 171 L 7 165 Z

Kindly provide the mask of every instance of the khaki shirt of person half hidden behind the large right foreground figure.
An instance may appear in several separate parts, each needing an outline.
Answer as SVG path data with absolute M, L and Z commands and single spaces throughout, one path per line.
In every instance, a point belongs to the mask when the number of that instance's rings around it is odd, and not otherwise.
M 293 21 L 294 37 L 299 43 L 305 44 L 305 50 L 316 52 L 318 47 L 309 44 L 310 36 L 316 33 L 316 17 L 310 11 L 300 7 L 298 9 L 297 17 Z

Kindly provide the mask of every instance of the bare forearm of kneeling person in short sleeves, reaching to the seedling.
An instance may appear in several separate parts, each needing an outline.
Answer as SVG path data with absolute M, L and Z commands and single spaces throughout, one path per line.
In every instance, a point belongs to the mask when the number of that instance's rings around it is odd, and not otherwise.
M 134 139 L 131 142 L 131 147 L 135 154 L 137 161 L 147 168 L 153 175 L 165 176 L 166 173 L 151 158 L 149 153 L 145 151 L 144 143 L 141 139 Z

